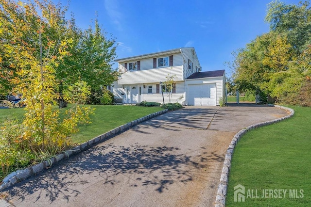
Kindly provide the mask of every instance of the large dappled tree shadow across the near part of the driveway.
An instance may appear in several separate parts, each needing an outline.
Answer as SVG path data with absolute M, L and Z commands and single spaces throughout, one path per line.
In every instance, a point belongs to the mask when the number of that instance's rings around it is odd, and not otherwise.
M 127 185 L 129 189 L 150 186 L 163 193 L 171 185 L 187 184 L 194 177 L 206 179 L 202 169 L 208 169 L 209 162 L 224 160 L 224 156 L 205 148 L 198 156 L 187 155 L 193 152 L 187 150 L 181 154 L 178 147 L 149 147 L 138 143 L 96 146 L 9 188 L 8 192 L 21 201 L 32 196 L 33 203 L 44 199 L 50 204 L 55 200 L 69 203 L 83 194 L 84 189 L 98 184 L 102 191 L 109 191 L 109 186 Z

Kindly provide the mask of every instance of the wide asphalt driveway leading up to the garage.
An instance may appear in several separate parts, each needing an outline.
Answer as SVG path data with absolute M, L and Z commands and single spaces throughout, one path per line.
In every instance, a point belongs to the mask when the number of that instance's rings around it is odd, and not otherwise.
M 286 115 L 255 104 L 186 107 L 130 128 L 6 192 L 17 207 L 212 206 L 234 134 Z

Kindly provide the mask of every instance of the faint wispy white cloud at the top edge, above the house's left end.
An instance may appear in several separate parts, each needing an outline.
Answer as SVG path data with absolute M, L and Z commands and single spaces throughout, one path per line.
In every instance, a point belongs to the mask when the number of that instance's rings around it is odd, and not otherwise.
M 104 0 L 104 6 L 108 16 L 112 20 L 112 23 L 116 25 L 119 31 L 122 31 L 122 13 L 120 12 L 118 0 Z

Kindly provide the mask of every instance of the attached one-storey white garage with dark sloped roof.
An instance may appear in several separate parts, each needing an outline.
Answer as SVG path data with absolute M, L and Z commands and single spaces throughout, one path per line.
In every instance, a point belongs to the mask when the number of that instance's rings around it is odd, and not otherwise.
M 186 104 L 216 106 L 225 97 L 225 70 L 193 73 L 186 79 Z

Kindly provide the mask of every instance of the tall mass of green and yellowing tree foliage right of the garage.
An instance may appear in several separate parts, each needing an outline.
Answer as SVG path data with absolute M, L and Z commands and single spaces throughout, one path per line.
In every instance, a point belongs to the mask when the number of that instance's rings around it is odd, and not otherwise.
M 268 5 L 270 32 L 258 36 L 235 52 L 233 82 L 239 90 L 264 92 L 278 100 L 290 100 L 308 85 L 311 44 L 309 1 L 286 5 L 278 0 Z M 292 97 L 292 98 L 290 98 Z

